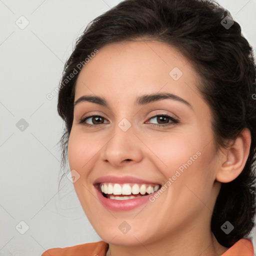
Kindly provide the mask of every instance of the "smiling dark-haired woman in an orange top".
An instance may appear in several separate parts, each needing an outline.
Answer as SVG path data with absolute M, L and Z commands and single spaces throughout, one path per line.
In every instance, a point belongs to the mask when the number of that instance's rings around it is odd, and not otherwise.
M 93 20 L 58 113 L 63 163 L 102 241 L 43 256 L 252 256 L 254 90 L 252 49 L 212 1 L 125 0 Z

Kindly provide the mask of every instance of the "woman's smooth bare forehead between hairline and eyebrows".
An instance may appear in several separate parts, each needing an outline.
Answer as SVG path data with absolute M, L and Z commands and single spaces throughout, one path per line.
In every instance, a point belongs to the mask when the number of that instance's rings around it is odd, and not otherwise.
M 167 91 L 189 101 L 200 97 L 194 92 L 198 80 L 189 61 L 166 43 L 111 43 L 81 69 L 74 100 L 89 93 L 124 102 L 139 94 Z

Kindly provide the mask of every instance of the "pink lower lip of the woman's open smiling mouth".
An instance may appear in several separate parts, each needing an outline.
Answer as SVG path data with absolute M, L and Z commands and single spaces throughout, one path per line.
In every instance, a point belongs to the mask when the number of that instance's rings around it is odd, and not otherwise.
M 154 193 L 144 195 L 138 198 L 133 199 L 126 199 L 126 200 L 114 200 L 106 198 L 102 195 L 102 193 L 96 188 L 96 193 L 98 196 L 98 199 L 103 204 L 103 206 L 109 210 L 115 210 L 115 211 L 124 211 L 124 210 L 132 210 L 146 202 L 149 201 L 149 197 L 152 196 Z

